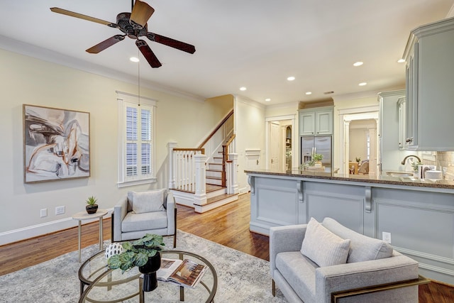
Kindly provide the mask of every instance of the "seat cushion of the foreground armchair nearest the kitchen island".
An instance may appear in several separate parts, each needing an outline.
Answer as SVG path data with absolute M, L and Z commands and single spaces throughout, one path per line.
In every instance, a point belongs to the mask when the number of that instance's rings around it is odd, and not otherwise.
M 315 270 L 319 266 L 299 251 L 286 251 L 276 255 L 276 268 L 306 303 L 315 302 Z

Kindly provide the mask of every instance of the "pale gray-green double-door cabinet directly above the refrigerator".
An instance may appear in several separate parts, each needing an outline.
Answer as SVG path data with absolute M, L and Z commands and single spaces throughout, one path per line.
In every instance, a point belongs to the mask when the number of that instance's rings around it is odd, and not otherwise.
M 299 136 L 333 134 L 333 106 L 299 110 Z

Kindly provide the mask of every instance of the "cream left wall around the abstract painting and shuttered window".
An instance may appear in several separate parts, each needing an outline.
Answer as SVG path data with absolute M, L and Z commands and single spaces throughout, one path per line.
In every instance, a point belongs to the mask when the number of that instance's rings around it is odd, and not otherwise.
M 129 190 L 167 187 L 167 143 L 196 147 L 233 106 L 142 86 L 143 96 L 157 100 L 157 183 L 118 189 L 116 91 L 135 94 L 137 86 L 4 50 L 0 66 L 0 245 L 75 226 L 72 214 L 83 211 L 91 195 L 110 209 Z M 91 177 L 23 183 L 22 104 L 90 113 Z M 65 214 L 55 215 L 55 206 L 65 206 Z M 48 209 L 48 216 L 40 218 L 40 209 Z

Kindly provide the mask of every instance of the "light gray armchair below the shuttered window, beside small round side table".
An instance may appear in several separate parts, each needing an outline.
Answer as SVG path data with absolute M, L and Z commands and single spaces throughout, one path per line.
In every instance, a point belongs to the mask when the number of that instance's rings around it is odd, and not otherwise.
M 128 192 L 112 213 L 112 242 L 141 238 L 145 233 L 174 236 L 177 247 L 177 206 L 172 192 L 166 189 Z

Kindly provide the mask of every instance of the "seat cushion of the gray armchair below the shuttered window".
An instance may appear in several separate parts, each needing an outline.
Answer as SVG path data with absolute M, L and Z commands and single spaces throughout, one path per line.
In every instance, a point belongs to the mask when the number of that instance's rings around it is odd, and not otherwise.
M 158 228 L 167 228 L 166 211 L 153 211 L 142 214 L 128 212 L 123 221 L 121 221 L 122 233 Z

